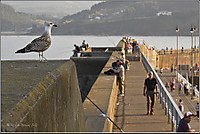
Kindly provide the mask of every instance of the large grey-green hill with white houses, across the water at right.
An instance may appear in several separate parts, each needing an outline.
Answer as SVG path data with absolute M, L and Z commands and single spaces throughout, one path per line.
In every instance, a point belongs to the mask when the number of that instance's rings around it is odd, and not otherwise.
M 52 29 L 52 34 L 166 36 L 176 35 L 179 24 L 179 34 L 190 35 L 191 25 L 198 28 L 198 6 L 196 0 L 106 1 L 54 20 L 58 28 Z M 157 16 L 161 11 L 172 12 L 172 15 Z M 42 31 L 42 25 L 35 26 L 29 34 Z

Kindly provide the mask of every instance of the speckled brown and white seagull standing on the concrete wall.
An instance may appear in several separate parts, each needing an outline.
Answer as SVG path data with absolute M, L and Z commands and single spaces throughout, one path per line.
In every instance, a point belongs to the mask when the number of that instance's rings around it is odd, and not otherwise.
M 34 39 L 26 47 L 17 50 L 15 53 L 38 52 L 40 62 L 43 62 L 43 59 L 47 60 L 43 56 L 43 52 L 47 50 L 51 45 L 51 28 L 53 26 L 57 27 L 57 25 L 53 24 L 52 22 L 45 22 L 44 25 L 45 25 L 44 32 L 40 37 Z M 40 60 L 40 56 L 42 57 L 42 60 Z

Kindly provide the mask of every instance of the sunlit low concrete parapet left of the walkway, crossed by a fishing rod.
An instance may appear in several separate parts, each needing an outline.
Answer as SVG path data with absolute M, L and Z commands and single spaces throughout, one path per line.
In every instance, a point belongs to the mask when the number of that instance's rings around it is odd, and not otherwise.
M 119 57 L 120 54 L 121 52 L 113 52 L 88 94 L 88 97 L 112 120 L 114 120 L 118 87 L 116 75 L 105 75 L 104 71 L 112 68 L 112 62 L 116 61 L 114 57 Z M 108 119 L 100 117 L 101 112 L 89 100 L 85 100 L 83 106 L 86 125 L 92 128 L 90 132 L 112 132 L 113 124 Z

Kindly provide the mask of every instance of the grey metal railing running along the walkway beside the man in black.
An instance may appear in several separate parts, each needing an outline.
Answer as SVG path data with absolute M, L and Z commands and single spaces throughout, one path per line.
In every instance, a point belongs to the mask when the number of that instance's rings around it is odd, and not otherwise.
M 153 76 L 158 82 L 160 104 L 162 104 L 162 109 L 165 109 L 165 115 L 168 116 L 168 123 L 171 123 L 171 130 L 175 131 L 175 128 L 178 128 L 179 121 L 183 118 L 183 114 L 142 52 L 141 60 L 146 71 L 153 72 Z

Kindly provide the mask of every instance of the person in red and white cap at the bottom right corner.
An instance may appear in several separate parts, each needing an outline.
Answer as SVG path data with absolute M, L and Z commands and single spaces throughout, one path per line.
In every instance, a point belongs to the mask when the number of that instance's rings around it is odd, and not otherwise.
M 195 132 L 189 125 L 192 117 L 194 117 L 194 114 L 191 112 L 185 113 L 184 118 L 179 121 L 177 132 Z

